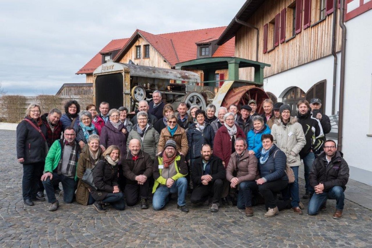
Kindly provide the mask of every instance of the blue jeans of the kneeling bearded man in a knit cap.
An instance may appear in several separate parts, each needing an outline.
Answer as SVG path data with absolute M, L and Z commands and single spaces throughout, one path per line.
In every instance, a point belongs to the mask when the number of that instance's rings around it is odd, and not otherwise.
M 154 210 L 162 209 L 169 201 L 168 195 L 178 192 L 178 206 L 186 205 L 187 180 L 184 177 L 178 178 L 172 187 L 159 185 L 153 196 Z

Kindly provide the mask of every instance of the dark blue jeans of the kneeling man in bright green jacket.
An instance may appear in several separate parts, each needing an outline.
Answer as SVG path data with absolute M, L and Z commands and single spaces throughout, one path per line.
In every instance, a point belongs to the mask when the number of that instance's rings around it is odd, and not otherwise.
M 50 177 L 48 177 L 46 181 L 42 181 L 45 188 L 45 192 L 47 193 L 48 196 L 48 202 L 54 203 L 57 201 L 54 195 L 54 184 L 56 184 L 57 182 L 61 182 L 63 189 L 63 201 L 65 203 L 72 203 L 75 194 L 76 186 L 75 179 L 66 177 L 65 175 L 58 175 L 55 172 L 53 172 L 52 174 L 53 174 L 52 180 L 50 179 Z

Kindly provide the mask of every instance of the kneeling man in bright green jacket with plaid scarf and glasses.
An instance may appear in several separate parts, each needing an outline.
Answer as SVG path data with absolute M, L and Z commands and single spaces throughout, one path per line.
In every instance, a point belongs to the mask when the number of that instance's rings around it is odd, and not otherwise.
M 49 211 L 55 211 L 59 206 L 54 195 L 53 185 L 55 182 L 62 183 L 65 203 L 71 203 L 74 199 L 76 164 L 80 146 L 75 142 L 74 128 L 67 127 L 63 135 L 64 139 L 56 140 L 50 147 L 47 158 L 45 158 L 45 173 L 41 177 L 48 202 L 51 203 Z

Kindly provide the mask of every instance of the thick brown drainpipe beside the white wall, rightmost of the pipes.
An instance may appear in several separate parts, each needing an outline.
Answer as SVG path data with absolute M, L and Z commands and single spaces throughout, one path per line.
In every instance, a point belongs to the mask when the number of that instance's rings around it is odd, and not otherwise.
M 344 24 L 345 0 L 341 0 L 340 6 L 340 26 L 342 29 L 341 39 L 341 66 L 340 66 L 340 104 L 339 104 L 339 135 L 337 146 L 342 150 L 342 128 L 344 118 L 344 88 L 345 88 L 345 55 L 346 55 L 346 26 Z

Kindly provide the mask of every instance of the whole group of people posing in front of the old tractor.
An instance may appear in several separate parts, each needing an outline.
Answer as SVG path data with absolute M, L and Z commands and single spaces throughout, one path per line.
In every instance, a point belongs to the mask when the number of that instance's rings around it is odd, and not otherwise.
M 32 104 L 17 126 L 23 201 L 45 201 L 45 191 L 50 211 L 58 209 L 59 193 L 65 203 L 76 198 L 105 212 L 108 205 L 124 210 L 138 202 L 148 209 L 152 193 L 153 209 L 160 210 L 177 194 L 177 208 L 188 212 L 190 193 L 191 203 L 211 212 L 233 203 L 253 216 L 253 206 L 264 203 L 265 217 L 282 209 L 302 214 L 302 160 L 308 214 L 324 210 L 331 198 L 337 201 L 333 217 L 341 218 L 349 168 L 336 143 L 325 140 L 331 127 L 327 115 L 314 111 L 320 99 L 299 101 L 297 117 L 287 104 L 265 99 L 262 106 L 259 115 L 253 99 L 218 111 L 214 105 L 187 109 L 181 102 L 176 115 L 158 90 L 150 104 L 140 101 L 131 113 L 107 102 L 99 113 L 93 104 L 80 111 L 77 101 L 69 101 L 64 114 L 55 108 L 41 115 Z M 135 116 L 129 120 L 128 114 Z M 83 179 L 89 175 L 92 182 Z

